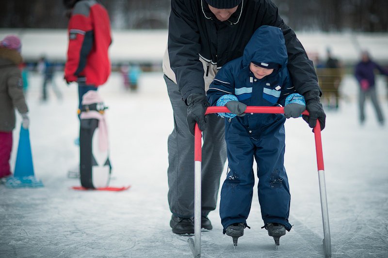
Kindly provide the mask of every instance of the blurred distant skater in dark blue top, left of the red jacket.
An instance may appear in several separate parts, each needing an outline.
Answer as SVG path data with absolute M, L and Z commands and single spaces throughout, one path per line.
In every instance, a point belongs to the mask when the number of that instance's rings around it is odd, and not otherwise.
M 50 62 L 46 56 L 42 56 L 37 64 L 37 70 L 38 73 L 43 76 L 43 84 L 42 84 L 42 96 L 41 101 L 46 102 L 48 100 L 47 95 L 47 85 L 50 83 L 52 90 L 55 93 L 55 96 L 58 100 L 62 99 L 62 93 L 58 89 L 57 84 L 55 83 L 54 79 L 54 72 L 55 72 L 55 65 L 54 63 Z

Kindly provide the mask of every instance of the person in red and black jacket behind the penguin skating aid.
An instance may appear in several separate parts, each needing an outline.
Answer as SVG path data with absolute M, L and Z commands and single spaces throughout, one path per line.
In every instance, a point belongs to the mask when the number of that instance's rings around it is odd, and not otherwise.
M 104 6 L 96 0 L 63 0 L 63 3 L 70 18 L 65 80 L 78 82 L 81 109 L 83 94 L 97 91 L 111 73 L 110 20 Z

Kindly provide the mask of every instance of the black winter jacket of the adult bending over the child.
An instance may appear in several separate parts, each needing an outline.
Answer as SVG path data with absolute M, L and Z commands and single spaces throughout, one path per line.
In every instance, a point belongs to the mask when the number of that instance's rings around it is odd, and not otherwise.
M 242 56 L 249 39 L 262 25 L 282 29 L 289 56 L 287 67 L 296 91 L 300 94 L 321 91 L 312 61 L 272 1 L 242 0 L 237 11 L 221 22 L 210 12 L 205 0 L 172 0 L 168 54 L 183 99 L 192 93 L 205 94 L 206 70 L 200 59 L 220 69 L 226 62 Z

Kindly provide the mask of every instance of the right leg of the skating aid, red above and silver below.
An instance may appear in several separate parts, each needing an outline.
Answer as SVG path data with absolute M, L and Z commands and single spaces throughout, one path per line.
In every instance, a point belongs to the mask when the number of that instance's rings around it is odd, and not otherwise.
M 329 212 L 327 208 L 326 184 L 324 180 L 323 152 L 321 140 L 321 125 L 317 120 L 314 127 L 315 149 L 317 152 L 319 192 L 321 195 L 321 209 L 323 222 L 323 249 L 326 257 L 331 257 L 331 238 L 329 226 Z

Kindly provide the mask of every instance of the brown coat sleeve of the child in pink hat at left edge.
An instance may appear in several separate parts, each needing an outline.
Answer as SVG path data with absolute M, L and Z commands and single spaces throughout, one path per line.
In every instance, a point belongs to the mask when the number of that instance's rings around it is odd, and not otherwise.
M 12 104 L 20 114 L 28 112 L 28 107 L 23 93 L 23 80 L 21 72 L 16 68 L 7 79 L 8 95 L 12 99 Z

